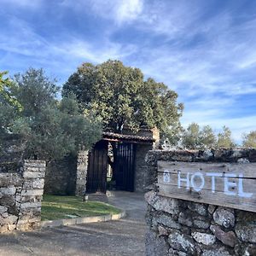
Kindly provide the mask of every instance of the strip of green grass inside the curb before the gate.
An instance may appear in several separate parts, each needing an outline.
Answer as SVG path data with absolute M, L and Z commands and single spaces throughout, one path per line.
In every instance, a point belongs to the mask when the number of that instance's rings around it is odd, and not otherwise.
M 44 195 L 42 220 L 79 218 L 119 213 L 120 210 L 98 201 L 84 202 L 82 197 Z

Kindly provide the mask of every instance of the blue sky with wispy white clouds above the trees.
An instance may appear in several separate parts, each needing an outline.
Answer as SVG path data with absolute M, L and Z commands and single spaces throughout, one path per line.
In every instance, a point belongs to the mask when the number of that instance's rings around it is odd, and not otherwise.
M 44 67 L 62 84 L 119 59 L 176 90 L 182 123 L 256 130 L 256 1 L 0 0 L 0 70 Z

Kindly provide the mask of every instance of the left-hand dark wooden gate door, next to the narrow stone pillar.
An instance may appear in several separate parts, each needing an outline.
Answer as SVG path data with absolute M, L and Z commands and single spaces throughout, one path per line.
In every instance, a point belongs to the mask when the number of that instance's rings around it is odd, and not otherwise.
M 96 143 L 89 154 L 86 192 L 106 193 L 108 168 L 108 142 Z

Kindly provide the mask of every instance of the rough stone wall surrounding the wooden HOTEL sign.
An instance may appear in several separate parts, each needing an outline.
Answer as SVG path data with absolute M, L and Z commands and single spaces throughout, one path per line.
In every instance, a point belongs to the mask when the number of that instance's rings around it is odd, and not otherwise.
M 148 172 L 153 189 L 145 195 L 146 254 L 256 255 L 256 213 L 199 204 L 157 195 L 157 160 L 255 162 L 256 149 L 206 151 L 150 151 Z

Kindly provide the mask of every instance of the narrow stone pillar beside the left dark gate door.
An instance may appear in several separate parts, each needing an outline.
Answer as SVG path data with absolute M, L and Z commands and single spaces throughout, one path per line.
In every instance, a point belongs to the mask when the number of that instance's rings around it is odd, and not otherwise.
M 81 150 L 78 154 L 76 192 L 75 195 L 83 196 L 86 190 L 86 178 L 88 169 L 88 150 Z

